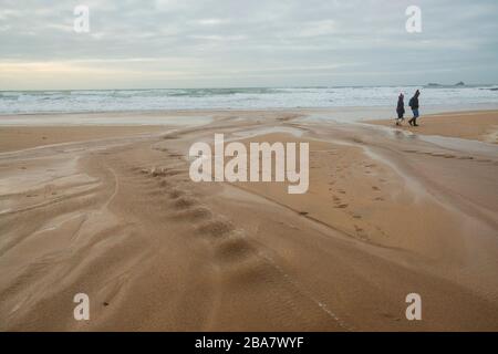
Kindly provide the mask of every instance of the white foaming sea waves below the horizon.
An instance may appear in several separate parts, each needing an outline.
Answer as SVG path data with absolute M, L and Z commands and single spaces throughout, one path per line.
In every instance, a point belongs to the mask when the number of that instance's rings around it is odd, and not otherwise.
M 0 91 L 0 115 L 177 110 L 395 107 L 497 108 L 498 85 Z

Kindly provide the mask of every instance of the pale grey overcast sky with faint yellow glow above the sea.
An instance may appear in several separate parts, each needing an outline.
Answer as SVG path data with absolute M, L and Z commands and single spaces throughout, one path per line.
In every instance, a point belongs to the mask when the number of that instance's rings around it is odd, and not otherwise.
M 498 83 L 497 17 L 497 0 L 0 0 L 0 90 Z

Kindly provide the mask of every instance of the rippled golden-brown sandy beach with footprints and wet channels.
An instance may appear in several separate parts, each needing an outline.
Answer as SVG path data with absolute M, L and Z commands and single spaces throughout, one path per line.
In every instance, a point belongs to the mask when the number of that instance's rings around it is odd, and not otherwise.
M 498 111 L 314 114 L 0 127 L 0 330 L 498 331 Z M 215 133 L 309 143 L 308 192 L 191 181 Z

